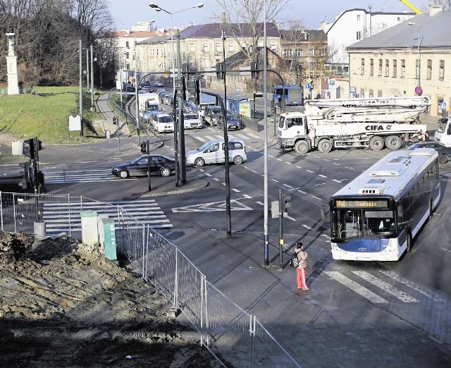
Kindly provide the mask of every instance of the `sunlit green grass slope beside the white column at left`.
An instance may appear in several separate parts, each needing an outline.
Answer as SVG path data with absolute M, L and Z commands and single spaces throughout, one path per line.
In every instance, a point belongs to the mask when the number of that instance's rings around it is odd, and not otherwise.
M 0 133 L 17 139 L 38 137 L 43 143 L 80 143 L 78 132 L 68 132 L 68 116 L 79 111 L 78 87 L 34 87 L 36 94 L 0 96 Z M 92 127 L 101 118 L 89 111 L 91 96 L 83 96 L 83 142 L 104 140 Z

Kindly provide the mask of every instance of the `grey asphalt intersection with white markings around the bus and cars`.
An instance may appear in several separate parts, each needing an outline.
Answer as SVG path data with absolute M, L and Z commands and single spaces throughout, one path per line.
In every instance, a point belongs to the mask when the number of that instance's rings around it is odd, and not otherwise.
M 206 127 L 186 131 L 186 146 L 197 148 L 222 135 Z M 204 178 L 202 190 L 155 197 L 170 226 L 161 228 L 223 293 L 257 315 L 303 367 L 449 367 L 451 365 L 451 164 L 442 167 L 442 200 L 435 216 L 400 262 L 337 262 L 330 256 L 329 223 L 319 209 L 330 195 L 355 178 L 386 151 L 367 149 L 312 152 L 298 156 L 268 147 L 269 202 L 278 190 L 292 195 L 283 221 L 285 247 L 280 269 L 278 220 L 268 220 L 271 266 L 262 266 L 263 139 L 251 130 L 243 137 L 248 161 L 230 166 L 232 238 L 226 238 L 223 165 L 188 168 L 188 180 Z M 172 135 L 161 135 L 157 150 L 173 155 Z M 78 164 L 43 165 L 51 193 L 70 192 L 96 200 L 148 199 L 147 178 L 121 180 L 109 174 L 114 163 L 135 157 L 132 148 L 106 159 Z M 81 160 L 79 160 L 81 161 Z M 70 181 L 71 173 L 84 180 Z M 49 183 L 53 175 L 54 183 Z M 64 180 L 61 182 L 61 173 Z M 155 188 L 164 180 L 152 176 Z M 130 204 L 132 206 L 133 204 Z M 138 204 L 137 204 L 138 205 Z M 309 252 L 308 293 L 295 288 L 288 266 L 290 249 L 301 240 Z M 297 349 L 301 345 L 302 350 Z

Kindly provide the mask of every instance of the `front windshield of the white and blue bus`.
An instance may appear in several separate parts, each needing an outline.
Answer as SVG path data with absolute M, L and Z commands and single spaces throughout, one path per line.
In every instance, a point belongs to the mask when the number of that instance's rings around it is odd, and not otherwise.
M 395 213 L 390 210 L 339 209 L 335 212 L 335 239 L 392 238 L 396 234 Z

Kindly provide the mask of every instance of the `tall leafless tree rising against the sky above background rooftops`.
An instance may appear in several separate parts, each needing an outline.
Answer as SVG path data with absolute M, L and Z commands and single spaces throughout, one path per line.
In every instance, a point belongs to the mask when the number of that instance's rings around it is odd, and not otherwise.
M 224 27 L 228 37 L 232 37 L 238 44 L 247 43 L 243 49 L 249 61 L 254 58 L 254 49 L 263 37 L 265 0 L 216 0 L 216 4 L 223 11 L 226 19 L 221 15 L 217 20 L 226 22 Z M 266 0 L 266 21 L 276 18 L 290 0 Z

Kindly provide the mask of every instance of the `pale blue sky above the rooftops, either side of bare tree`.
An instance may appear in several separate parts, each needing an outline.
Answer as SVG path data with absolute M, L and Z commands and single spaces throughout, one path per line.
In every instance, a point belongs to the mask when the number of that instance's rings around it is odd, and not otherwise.
M 231 0 L 232 1 L 232 0 Z M 137 22 L 155 20 L 156 27 L 171 27 L 171 16 L 163 11 L 157 12 L 149 7 L 149 3 L 157 4 L 170 13 L 203 3 L 203 8 L 194 8 L 173 14 L 174 27 L 186 27 L 190 23 L 214 23 L 212 14 L 220 14 L 216 0 L 109 0 L 111 15 L 116 30 L 131 29 Z M 416 7 L 421 6 L 420 0 L 412 0 Z M 399 0 L 290 0 L 288 6 L 280 12 L 276 21 L 300 19 L 310 29 L 317 29 L 322 20 L 333 23 L 335 17 L 342 11 L 352 8 L 365 8 L 371 4 L 372 11 L 402 12 L 409 8 Z M 269 20 L 268 20 L 269 21 Z

